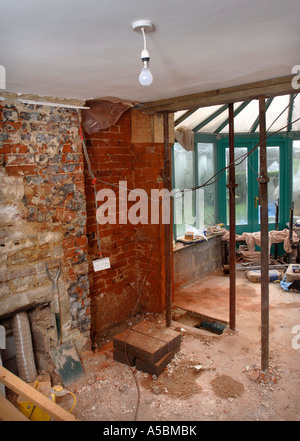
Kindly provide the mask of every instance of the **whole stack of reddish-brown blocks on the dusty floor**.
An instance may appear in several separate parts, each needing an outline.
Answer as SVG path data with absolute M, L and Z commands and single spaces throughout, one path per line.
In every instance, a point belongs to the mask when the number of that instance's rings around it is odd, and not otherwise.
M 170 328 L 142 321 L 113 339 L 114 360 L 160 375 L 180 350 L 181 334 Z

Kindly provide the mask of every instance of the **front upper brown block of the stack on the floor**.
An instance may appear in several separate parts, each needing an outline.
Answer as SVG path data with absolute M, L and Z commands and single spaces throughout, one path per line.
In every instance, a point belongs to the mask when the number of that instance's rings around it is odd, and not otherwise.
M 128 358 L 156 363 L 168 352 L 168 345 L 156 338 L 130 329 L 116 335 L 113 339 L 114 349 L 128 353 Z

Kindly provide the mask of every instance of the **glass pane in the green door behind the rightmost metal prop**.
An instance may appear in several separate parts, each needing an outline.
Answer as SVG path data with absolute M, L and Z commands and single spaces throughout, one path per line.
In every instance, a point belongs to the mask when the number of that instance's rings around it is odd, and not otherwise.
M 258 148 L 258 163 L 260 158 L 260 147 Z M 268 184 L 268 214 L 269 222 L 275 223 L 276 206 L 279 199 L 279 147 L 267 147 L 267 170 L 269 177 Z M 260 222 L 260 210 L 258 212 Z

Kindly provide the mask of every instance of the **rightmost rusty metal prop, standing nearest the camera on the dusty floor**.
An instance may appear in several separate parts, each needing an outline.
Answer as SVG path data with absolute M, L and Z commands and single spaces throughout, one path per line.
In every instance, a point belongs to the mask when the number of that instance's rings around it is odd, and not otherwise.
M 266 142 L 266 103 L 259 98 L 260 137 L 260 237 L 261 237 L 261 369 L 269 370 L 269 223 L 268 223 L 268 173 Z

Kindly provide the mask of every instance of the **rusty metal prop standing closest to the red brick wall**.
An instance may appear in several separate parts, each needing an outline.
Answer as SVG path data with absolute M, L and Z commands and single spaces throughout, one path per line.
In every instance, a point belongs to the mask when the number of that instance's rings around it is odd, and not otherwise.
M 171 150 L 169 141 L 169 114 L 163 112 L 164 121 L 164 185 L 172 190 Z M 172 323 L 172 201 L 170 198 L 170 220 L 165 224 L 165 288 L 166 288 L 166 326 Z

